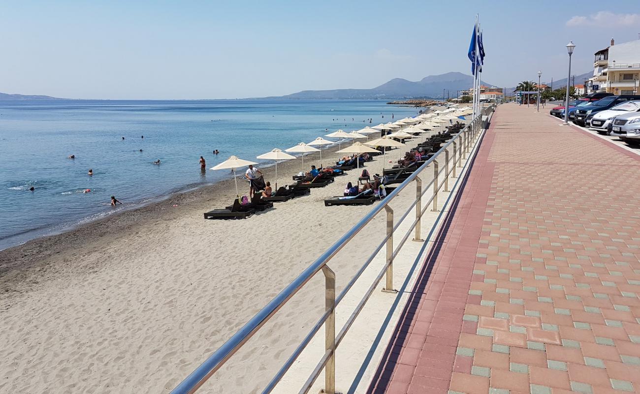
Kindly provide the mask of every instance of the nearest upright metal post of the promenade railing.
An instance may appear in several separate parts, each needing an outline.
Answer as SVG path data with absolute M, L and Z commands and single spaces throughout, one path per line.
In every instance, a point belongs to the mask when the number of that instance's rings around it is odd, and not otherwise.
M 326 394 L 335 394 L 335 272 L 324 265 L 324 309 L 331 314 L 324 322 L 324 349 L 331 351 L 331 356 L 324 366 L 324 390 Z

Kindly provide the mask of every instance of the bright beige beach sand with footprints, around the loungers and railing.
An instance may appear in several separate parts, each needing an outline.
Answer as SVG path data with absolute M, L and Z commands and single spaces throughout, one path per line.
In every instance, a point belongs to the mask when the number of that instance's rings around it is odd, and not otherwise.
M 389 151 L 387 160 L 406 150 Z M 336 157 L 323 152 L 325 164 Z M 305 159 L 307 168 L 318 163 L 317 154 Z M 377 156 L 366 168 L 380 173 L 382 164 Z M 292 183 L 300 168 L 300 159 L 278 165 L 278 183 Z M 273 168 L 264 172 L 273 183 Z M 225 181 L 0 252 L 0 392 L 172 390 L 372 209 L 324 206 L 357 174 L 246 220 L 204 220 L 234 198 Z M 413 197 L 415 190 L 401 193 L 394 209 L 404 211 Z M 338 291 L 384 228 L 378 215 L 333 258 Z M 202 391 L 257 392 L 323 309 L 318 274 Z

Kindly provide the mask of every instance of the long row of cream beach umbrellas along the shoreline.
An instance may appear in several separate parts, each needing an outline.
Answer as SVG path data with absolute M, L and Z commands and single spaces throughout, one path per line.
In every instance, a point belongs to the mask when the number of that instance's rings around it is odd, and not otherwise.
M 394 138 L 404 139 L 404 138 L 413 138 L 415 134 L 426 134 L 430 130 L 442 127 L 442 124 L 450 123 L 454 119 L 465 119 L 465 115 L 469 115 L 471 112 L 470 108 L 460 108 L 460 109 L 450 109 L 446 111 L 435 111 L 435 113 L 422 114 L 415 118 L 405 118 L 401 120 L 397 120 L 393 123 L 387 124 L 379 124 L 378 126 L 373 127 L 364 127 L 363 129 L 357 131 L 351 131 L 351 133 L 346 133 L 346 131 L 338 130 L 333 133 L 330 133 L 328 136 L 330 138 L 340 138 L 338 141 L 339 150 L 337 153 L 379 153 L 377 149 L 372 147 L 382 147 L 383 151 L 383 168 L 384 161 L 386 161 L 387 147 L 401 147 L 404 146 L 402 142 L 395 140 Z M 444 115 L 443 115 L 444 114 Z M 401 129 L 404 129 L 401 131 Z M 342 138 L 350 138 L 354 140 L 369 138 L 368 136 L 373 133 L 380 133 L 380 131 L 393 131 L 388 135 L 382 136 L 381 138 L 377 138 L 375 140 L 367 140 L 366 142 L 354 142 L 353 145 L 342 149 Z M 295 159 L 296 156 L 292 156 L 286 152 L 292 153 L 301 153 L 302 156 L 302 168 L 305 167 L 305 153 L 311 152 L 320 152 L 320 161 L 322 163 L 322 148 L 324 145 L 335 144 L 333 141 L 325 140 L 322 137 L 318 137 L 312 142 L 305 144 L 304 142 L 300 142 L 289 149 L 285 149 L 282 151 L 278 148 L 273 149 L 264 154 L 260 154 L 256 156 L 258 159 L 263 160 L 275 160 L 275 185 L 276 189 L 278 188 L 278 161 L 284 160 L 292 160 Z M 316 148 L 319 147 L 320 149 Z M 357 160 L 357 167 L 360 169 L 360 160 Z M 248 165 L 257 164 L 254 161 L 243 160 L 238 158 L 237 156 L 230 156 L 228 160 L 223 161 L 222 163 L 212 167 L 212 170 L 223 170 L 223 169 L 231 169 L 234 174 L 234 182 L 236 184 L 236 195 L 239 196 L 238 192 L 238 184 L 236 177 L 236 168 L 247 167 Z

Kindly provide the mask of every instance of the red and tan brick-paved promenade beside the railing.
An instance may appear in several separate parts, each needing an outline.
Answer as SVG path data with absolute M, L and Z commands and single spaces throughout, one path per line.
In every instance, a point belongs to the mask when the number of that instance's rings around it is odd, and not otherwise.
M 560 123 L 495 112 L 369 393 L 640 393 L 640 156 Z

